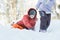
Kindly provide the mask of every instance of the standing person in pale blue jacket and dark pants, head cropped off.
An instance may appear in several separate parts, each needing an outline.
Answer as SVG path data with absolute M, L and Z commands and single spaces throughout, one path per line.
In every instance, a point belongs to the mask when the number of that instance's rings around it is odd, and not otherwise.
M 39 9 L 41 24 L 39 32 L 46 32 L 51 21 L 51 9 L 55 5 L 55 0 L 38 0 L 36 9 Z

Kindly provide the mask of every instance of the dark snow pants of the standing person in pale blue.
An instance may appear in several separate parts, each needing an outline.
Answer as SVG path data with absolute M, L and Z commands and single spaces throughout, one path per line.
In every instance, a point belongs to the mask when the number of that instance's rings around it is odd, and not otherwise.
M 51 13 L 46 14 L 45 11 L 39 11 L 39 14 L 41 16 L 40 29 L 47 30 L 48 26 L 50 25 L 50 21 L 51 21 Z

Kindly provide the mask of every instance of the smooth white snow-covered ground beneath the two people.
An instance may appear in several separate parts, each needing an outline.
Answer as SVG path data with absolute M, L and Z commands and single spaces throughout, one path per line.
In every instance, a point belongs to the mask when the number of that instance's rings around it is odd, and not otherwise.
M 52 20 L 45 33 L 38 32 L 39 20 L 35 31 L 14 29 L 10 25 L 0 25 L 0 40 L 60 40 L 60 20 Z

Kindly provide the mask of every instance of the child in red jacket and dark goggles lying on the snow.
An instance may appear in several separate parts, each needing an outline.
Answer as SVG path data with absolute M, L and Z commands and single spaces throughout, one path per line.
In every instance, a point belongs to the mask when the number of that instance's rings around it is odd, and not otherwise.
M 19 29 L 34 29 L 37 20 L 37 11 L 30 8 L 27 15 L 24 15 L 22 20 L 12 26 Z

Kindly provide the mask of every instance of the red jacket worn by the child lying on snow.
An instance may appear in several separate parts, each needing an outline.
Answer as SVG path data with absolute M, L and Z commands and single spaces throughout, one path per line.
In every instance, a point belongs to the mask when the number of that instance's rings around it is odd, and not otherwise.
M 23 19 L 17 22 L 17 24 L 22 25 L 23 27 L 32 28 L 36 24 L 37 18 L 31 19 L 29 15 L 24 15 Z

